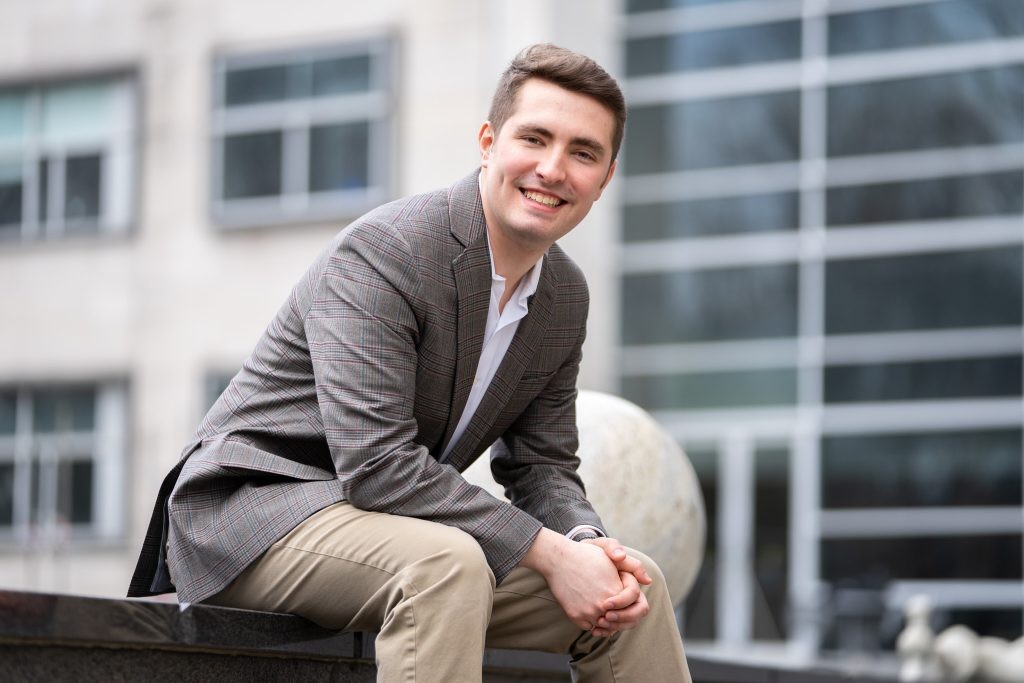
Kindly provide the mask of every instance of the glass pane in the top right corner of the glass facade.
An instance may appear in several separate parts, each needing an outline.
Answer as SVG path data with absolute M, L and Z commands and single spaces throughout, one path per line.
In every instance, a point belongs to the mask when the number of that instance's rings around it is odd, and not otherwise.
M 955 0 L 828 17 L 828 51 L 848 54 L 1024 34 L 1020 0 Z

